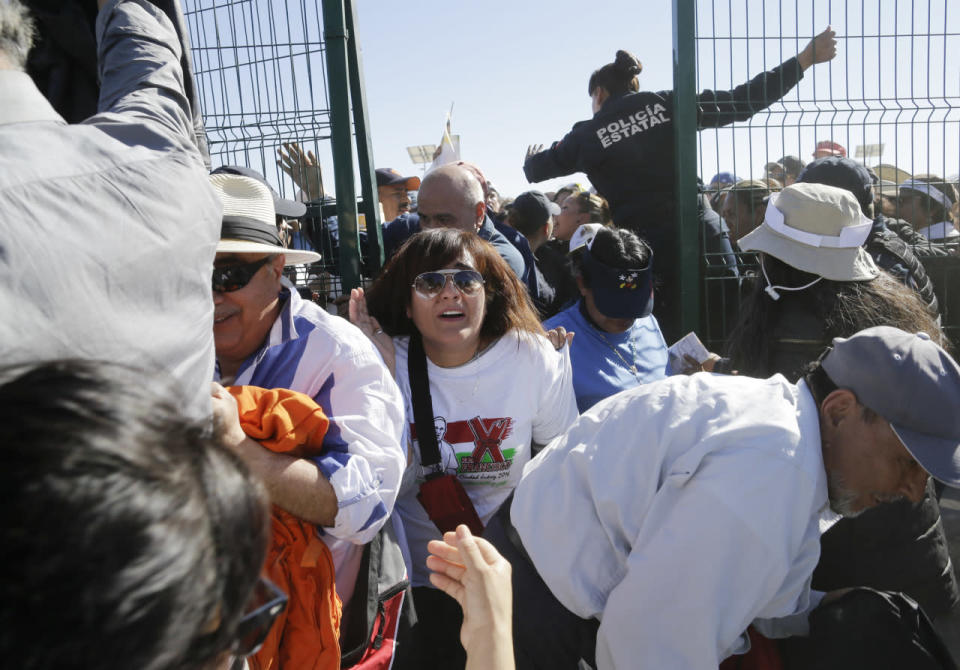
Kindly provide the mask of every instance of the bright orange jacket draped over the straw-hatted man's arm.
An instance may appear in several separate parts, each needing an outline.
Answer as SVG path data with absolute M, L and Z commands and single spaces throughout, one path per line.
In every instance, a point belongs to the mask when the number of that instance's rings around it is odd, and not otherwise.
M 233 386 L 240 425 L 270 451 L 292 456 L 319 455 L 329 420 L 309 396 L 287 389 Z M 252 670 L 336 670 L 340 667 L 340 598 L 330 549 L 311 523 L 276 505 L 273 535 L 264 568 L 289 595 Z

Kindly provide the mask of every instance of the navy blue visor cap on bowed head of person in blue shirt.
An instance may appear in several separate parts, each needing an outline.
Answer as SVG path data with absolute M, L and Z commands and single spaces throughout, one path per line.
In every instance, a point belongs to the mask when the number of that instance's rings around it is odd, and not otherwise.
M 653 311 L 653 250 L 646 267 L 614 268 L 601 263 L 581 247 L 583 269 L 593 302 L 610 319 L 640 319 Z

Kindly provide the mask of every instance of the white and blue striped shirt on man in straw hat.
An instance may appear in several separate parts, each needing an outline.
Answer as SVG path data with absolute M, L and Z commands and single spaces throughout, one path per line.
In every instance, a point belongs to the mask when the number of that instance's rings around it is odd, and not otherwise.
M 326 453 L 312 459 L 337 494 L 334 525 L 323 528 L 337 592 L 349 601 L 363 544 L 393 510 L 406 458 L 403 398 L 373 344 L 281 280 L 283 307 L 266 340 L 233 383 L 286 388 L 313 398 L 330 420 Z M 219 371 L 216 374 L 219 381 Z

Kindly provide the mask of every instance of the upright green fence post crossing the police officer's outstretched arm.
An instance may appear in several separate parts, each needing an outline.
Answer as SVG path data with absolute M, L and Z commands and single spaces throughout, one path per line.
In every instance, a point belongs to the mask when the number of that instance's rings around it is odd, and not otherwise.
M 678 293 L 684 333 L 700 327 L 696 11 L 696 0 L 673 0 L 674 194 L 679 241 L 675 262 L 680 264 Z

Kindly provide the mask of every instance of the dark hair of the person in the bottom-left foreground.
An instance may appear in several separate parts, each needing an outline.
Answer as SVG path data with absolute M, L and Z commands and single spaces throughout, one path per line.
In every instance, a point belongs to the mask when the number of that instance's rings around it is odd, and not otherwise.
M 18 668 L 194 670 L 230 649 L 266 494 L 155 376 L 0 370 L 0 654 Z

